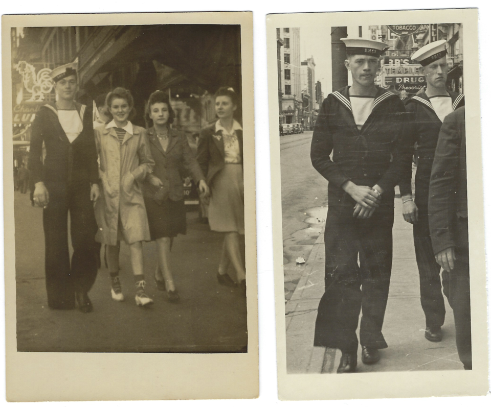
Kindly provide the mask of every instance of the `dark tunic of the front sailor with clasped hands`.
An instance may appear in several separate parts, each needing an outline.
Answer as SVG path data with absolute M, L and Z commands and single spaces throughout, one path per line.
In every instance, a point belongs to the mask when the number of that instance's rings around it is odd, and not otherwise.
M 397 95 L 378 88 L 373 110 L 358 130 L 348 89 L 346 86 L 329 93 L 322 103 L 310 148 L 312 164 L 329 181 L 329 206 L 355 205 L 341 188 L 351 180 L 356 185 L 380 185 L 384 189 L 382 202 L 393 207 L 399 177 L 397 143 L 405 125 L 404 104 Z

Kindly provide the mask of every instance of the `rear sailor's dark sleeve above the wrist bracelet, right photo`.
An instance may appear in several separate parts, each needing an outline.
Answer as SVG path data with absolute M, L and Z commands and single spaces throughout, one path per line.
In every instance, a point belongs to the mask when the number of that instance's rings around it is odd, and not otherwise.
M 406 106 L 404 131 L 400 134 L 399 150 L 399 190 L 400 196 L 412 195 L 411 178 L 413 175 L 414 145 L 417 141 L 416 106 Z

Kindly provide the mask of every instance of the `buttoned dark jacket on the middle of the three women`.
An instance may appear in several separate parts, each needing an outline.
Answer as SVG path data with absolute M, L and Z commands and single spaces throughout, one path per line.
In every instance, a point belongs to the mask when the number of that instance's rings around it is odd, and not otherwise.
M 169 198 L 172 201 L 183 199 L 183 177 L 185 175 L 189 174 L 196 185 L 200 180 L 205 179 L 189 147 L 188 138 L 184 133 L 170 129 L 167 151 L 164 151 L 153 127 L 147 130 L 147 135 L 150 151 L 155 161 L 152 174 L 163 183 L 164 199 Z M 151 198 L 155 193 L 155 187 L 146 181 L 143 193 L 146 197 Z

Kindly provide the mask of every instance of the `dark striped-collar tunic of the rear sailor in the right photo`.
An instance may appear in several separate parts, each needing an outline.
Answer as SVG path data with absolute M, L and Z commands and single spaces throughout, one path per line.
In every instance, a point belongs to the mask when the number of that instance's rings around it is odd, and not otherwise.
M 456 92 L 449 92 L 449 94 L 452 98 L 453 110 L 464 105 L 463 94 Z M 417 143 L 419 159 L 415 180 L 415 201 L 418 209 L 426 212 L 431 166 L 435 156 L 441 121 L 424 89 L 421 89 L 413 98 L 406 102 L 406 111 L 408 112 L 407 131 L 400 151 L 400 195 L 412 194 L 412 159 L 414 144 Z

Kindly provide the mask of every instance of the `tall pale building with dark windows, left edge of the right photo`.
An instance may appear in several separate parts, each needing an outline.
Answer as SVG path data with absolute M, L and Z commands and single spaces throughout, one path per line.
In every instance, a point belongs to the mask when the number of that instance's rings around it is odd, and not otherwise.
M 300 28 L 283 28 L 282 123 L 301 123 L 302 87 L 300 77 Z

